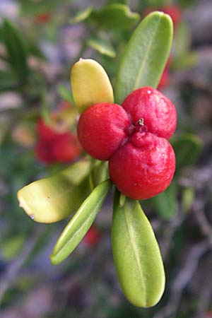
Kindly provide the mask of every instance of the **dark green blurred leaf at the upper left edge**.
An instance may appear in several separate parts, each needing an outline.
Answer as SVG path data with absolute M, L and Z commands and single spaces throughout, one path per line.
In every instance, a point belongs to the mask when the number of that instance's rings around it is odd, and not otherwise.
M 9 63 L 18 76 L 18 79 L 25 81 L 28 76 L 28 50 L 25 45 L 25 40 L 18 28 L 16 28 L 16 25 L 13 25 L 10 20 L 4 20 L 2 32 Z

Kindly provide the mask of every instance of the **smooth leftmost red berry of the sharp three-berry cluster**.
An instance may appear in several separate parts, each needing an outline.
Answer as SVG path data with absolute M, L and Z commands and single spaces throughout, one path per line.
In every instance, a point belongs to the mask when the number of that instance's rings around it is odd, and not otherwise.
M 129 117 L 117 104 L 100 103 L 88 108 L 78 122 L 78 140 L 84 151 L 99 160 L 108 160 L 126 138 Z

